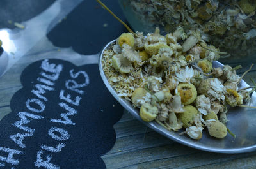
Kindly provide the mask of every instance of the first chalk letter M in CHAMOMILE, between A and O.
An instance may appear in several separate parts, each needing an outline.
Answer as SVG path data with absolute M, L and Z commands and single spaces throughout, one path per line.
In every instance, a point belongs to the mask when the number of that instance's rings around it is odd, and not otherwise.
M 28 133 L 34 133 L 35 129 L 31 129 L 27 126 L 23 126 L 23 124 L 28 124 L 30 120 L 27 117 L 30 117 L 31 119 L 43 119 L 44 117 L 41 115 L 35 115 L 35 114 L 30 114 L 28 112 L 19 112 L 17 115 L 20 117 L 20 121 L 15 122 L 12 124 L 16 128 L 22 129 L 23 131 L 26 131 Z

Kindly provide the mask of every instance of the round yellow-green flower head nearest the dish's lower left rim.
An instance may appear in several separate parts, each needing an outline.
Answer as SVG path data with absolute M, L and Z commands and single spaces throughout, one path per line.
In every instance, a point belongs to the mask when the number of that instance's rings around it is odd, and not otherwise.
M 145 103 L 140 108 L 140 117 L 143 121 L 150 122 L 153 121 L 158 114 L 157 107 L 150 105 L 149 103 Z

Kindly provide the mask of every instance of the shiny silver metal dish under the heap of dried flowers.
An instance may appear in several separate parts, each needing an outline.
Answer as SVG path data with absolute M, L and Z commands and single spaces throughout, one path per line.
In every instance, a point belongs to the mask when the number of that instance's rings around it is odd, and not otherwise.
M 109 85 L 109 82 L 104 74 L 102 69 L 102 57 L 103 51 L 106 48 L 111 47 L 116 40 L 109 42 L 100 52 L 99 55 L 99 71 L 102 77 L 102 80 L 106 87 L 108 87 L 109 92 L 114 96 L 114 98 L 128 111 L 130 112 L 136 119 L 143 122 L 149 128 L 154 129 L 161 135 L 164 135 L 175 142 L 182 143 L 184 145 L 188 145 L 189 147 L 193 147 L 195 149 L 200 149 L 203 151 L 210 151 L 210 152 L 221 152 L 221 153 L 241 153 L 241 152 L 249 152 L 256 150 L 256 111 L 253 108 L 228 108 L 227 119 L 227 128 L 230 129 L 235 135 L 236 138 L 232 137 L 231 135 L 227 135 L 225 138 L 217 139 L 213 138 L 208 134 L 207 129 L 204 129 L 203 136 L 200 140 L 192 140 L 187 135 L 179 135 L 182 131 L 168 131 L 167 129 L 163 128 L 157 122 L 144 122 L 141 120 L 139 115 L 139 109 L 134 108 L 132 104 L 122 98 L 118 97 L 117 92 Z M 220 67 L 223 66 L 218 61 L 213 62 L 213 67 Z M 249 86 L 243 80 L 239 84 L 239 88 Z M 256 105 L 256 94 L 253 92 L 252 99 L 248 104 L 250 106 Z

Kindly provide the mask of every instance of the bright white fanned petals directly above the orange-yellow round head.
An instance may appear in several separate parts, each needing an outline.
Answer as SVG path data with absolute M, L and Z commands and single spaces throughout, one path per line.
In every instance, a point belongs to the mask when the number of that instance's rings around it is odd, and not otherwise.
M 175 76 L 179 82 L 190 83 L 191 78 L 194 76 L 194 70 L 186 66 L 185 69 L 176 72 Z

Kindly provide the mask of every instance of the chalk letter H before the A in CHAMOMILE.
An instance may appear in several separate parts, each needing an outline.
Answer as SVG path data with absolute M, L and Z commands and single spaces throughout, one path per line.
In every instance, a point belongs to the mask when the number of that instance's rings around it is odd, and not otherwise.
M 18 150 L 6 148 L 6 147 L 0 147 L 0 151 L 8 153 L 7 157 L 0 156 L 0 161 L 9 163 L 11 165 L 19 164 L 19 160 L 13 158 L 14 154 L 24 154 L 24 152 L 22 152 L 22 151 L 18 151 Z

